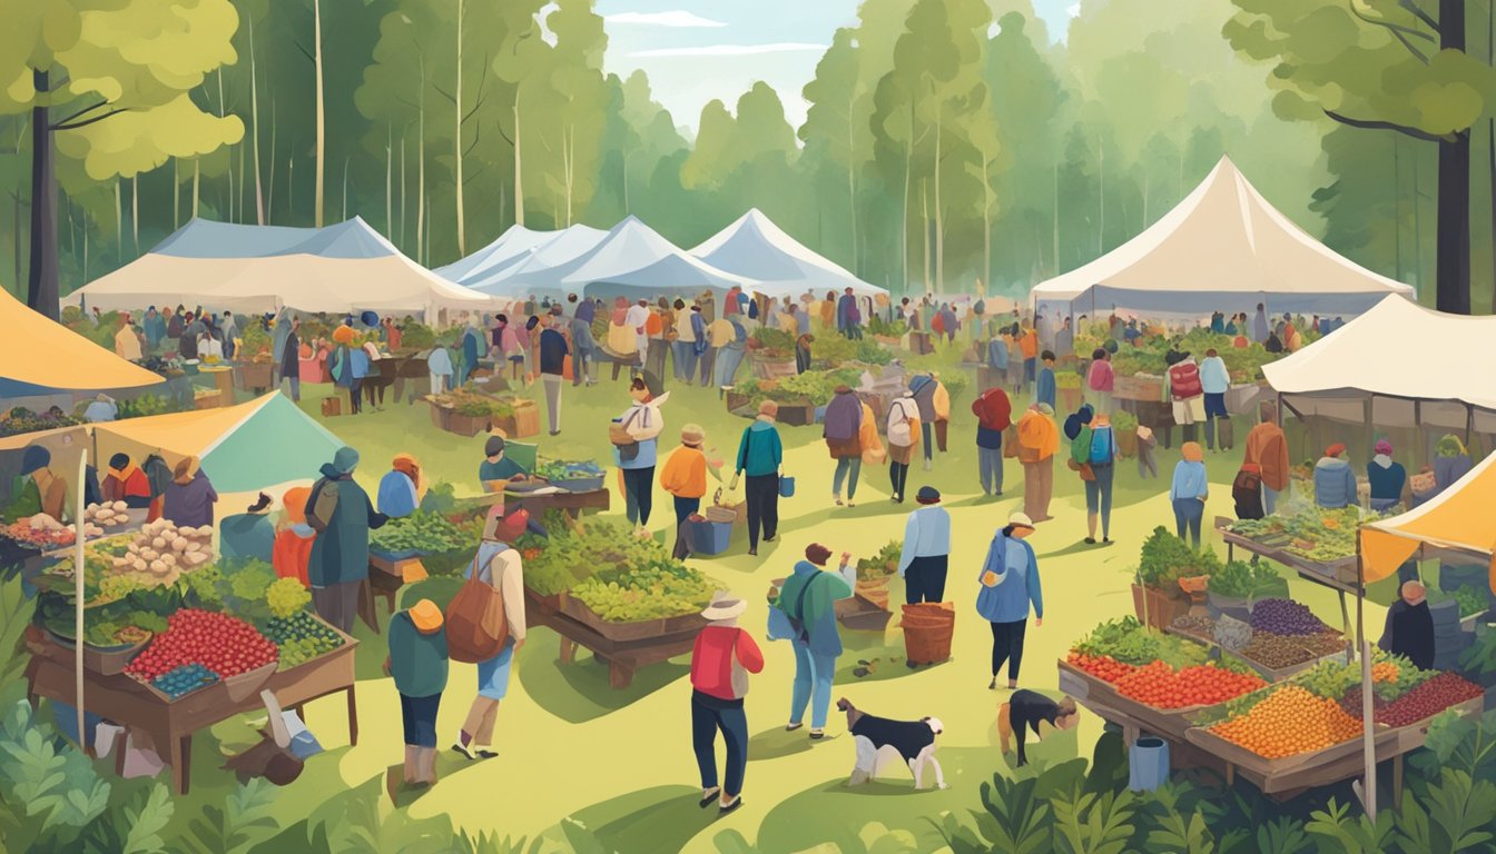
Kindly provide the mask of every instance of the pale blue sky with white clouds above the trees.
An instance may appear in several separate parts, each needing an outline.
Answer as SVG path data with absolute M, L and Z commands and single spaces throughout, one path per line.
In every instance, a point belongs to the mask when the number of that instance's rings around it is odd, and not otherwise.
M 860 0 L 598 0 L 607 30 L 609 72 L 649 75 L 655 100 L 678 126 L 694 129 L 702 108 L 738 97 L 764 81 L 799 127 L 800 90 L 838 27 L 857 22 Z M 1050 33 L 1064 33 L 1077 0 L 1034 0 Z

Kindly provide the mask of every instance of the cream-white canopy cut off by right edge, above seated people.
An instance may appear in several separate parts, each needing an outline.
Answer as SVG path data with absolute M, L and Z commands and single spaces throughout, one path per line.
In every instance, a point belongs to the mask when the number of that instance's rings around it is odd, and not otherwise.
M 1376 426 L 1496 432 L 1496 317 L 1441 314 L 1390 296 L 1303 350 L 1263 366 L 1285 405 Z M 1397 342 L 1414 345 L 1396 347 Z M 1462 369 L 1466 368 L 1466 369 Z

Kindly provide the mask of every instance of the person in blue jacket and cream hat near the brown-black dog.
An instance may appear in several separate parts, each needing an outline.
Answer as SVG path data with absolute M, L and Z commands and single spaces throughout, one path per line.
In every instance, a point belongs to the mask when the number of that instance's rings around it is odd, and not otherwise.
M 1044 594 L 1040 588 L 1038 559 L 1028 544 L 1034 522 L 1025 513 L 1008 516 L 1008 523 L 992 537 L 987 559 L 977 580 L 977 613 L 992 624 L 992 682 L 998 689 L 998 672 L 1008 664 L 1008 688 L 1019 686 L 1023 664 L 1023 634 L 1028 630 L 1029 606 L 1034 625 L 1044 625 Z

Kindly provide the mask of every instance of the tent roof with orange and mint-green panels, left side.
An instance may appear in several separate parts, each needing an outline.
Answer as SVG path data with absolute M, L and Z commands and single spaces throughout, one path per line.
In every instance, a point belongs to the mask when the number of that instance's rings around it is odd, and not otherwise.
M 316 479 L 344 444 L 277 392 L 236 407 L 99 423 L 94 438 L 100 459 L 117 452 L 144 459 L 157 450 L 171 464 L 197 456 L 220 494 Z

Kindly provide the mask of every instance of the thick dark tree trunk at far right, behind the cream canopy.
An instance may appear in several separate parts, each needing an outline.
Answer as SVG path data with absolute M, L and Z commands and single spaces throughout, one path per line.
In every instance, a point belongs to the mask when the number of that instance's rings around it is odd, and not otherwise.
M 1439 46 L 1465 51 L 1465 0 L 1439 0 Z M 1436 308 L 1471 313 L 1471 129 L 1439 142 Z

